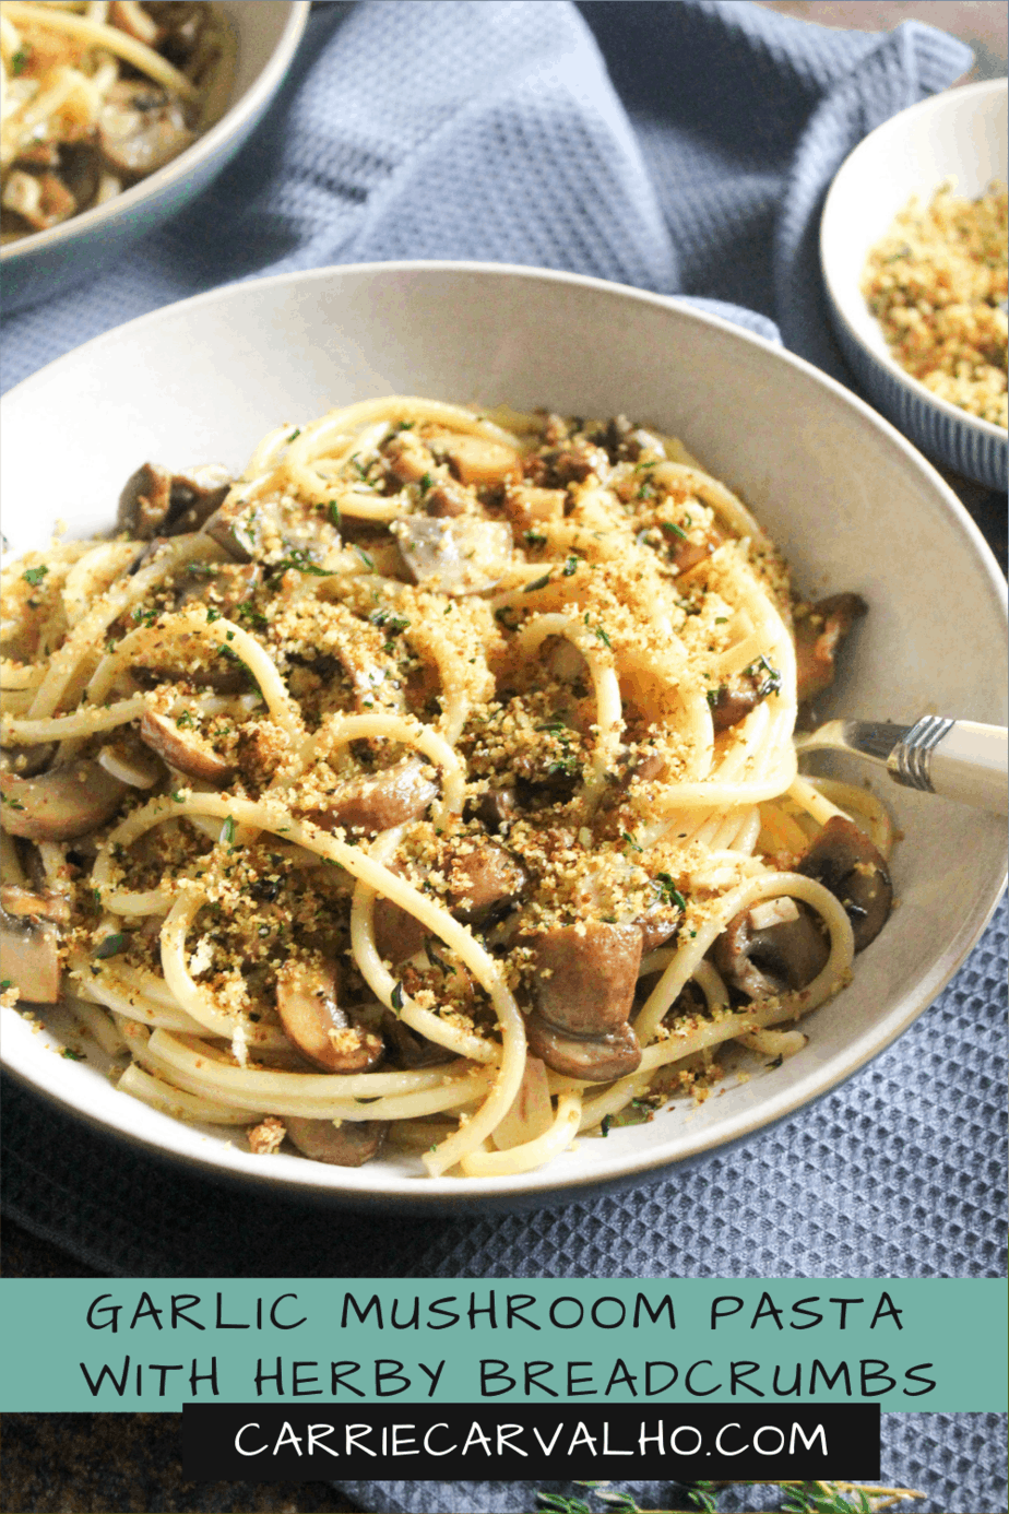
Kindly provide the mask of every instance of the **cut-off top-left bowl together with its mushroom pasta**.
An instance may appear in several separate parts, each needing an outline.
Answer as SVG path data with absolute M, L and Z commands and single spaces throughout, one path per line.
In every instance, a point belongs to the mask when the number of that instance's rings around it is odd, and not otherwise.
M 5 310 L 92 277 L 206 189 L 307 15 L 307 0 L 2 0 Z

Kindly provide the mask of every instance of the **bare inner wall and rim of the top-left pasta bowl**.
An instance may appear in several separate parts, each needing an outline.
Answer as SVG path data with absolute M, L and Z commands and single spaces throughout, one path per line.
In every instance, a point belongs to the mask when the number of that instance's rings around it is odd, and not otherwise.
M 260 89 L 269 92 L 274 83 L 283 77 L 283 68 L 293 53 L 298 36 L 304 26 L 303 12 L 307 9 L 292 0 L 219 0 L 219 8 L 227 18 L 234 39 L 234 73 L 228 91 L 227 106 L 219 120 L 197 141 L 174 157 L 157 173 L 141 179 L 115 200 L 107 200 L 101 206 L 83 210 L 80 215 L 50 227 L 47 232 L 36 232 L 17 242 L 8 242 L 0 250 L 5 263 L 21 262 L 33 253 L 64 244 L 80 232 L 120 221 L 129 217 L 142 201 L 157 195 L 174 182 L 185 180 L 197 162 L 213 157 L 219 147 L 227 142 L 233 132 L 245 120 L 245 111 L 254 109 Z M 278 61 L 277 79 L 272 79 L 271 62 Z M 277 67 L 277 64 L 275 64 Z M 269 77 L 268 76 L 269 71 Z

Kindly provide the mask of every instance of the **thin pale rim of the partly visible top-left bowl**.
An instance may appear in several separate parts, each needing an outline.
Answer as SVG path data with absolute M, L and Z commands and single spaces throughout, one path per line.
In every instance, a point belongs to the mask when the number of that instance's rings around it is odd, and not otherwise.
M 120 221 L 129 217 L 130 210 L 141 204 L 147 195 L 157 194 L 180 179 L 186 179 L 197 162 L 212 157 L 280 88 L 298 50 L 304 29 L 309 24 L 310 11 L 312 0 L 287 0 L 287 18 L 284 20 L 277 45 L 260 73 L 245 94 L 239 95 L 227 107 L 221 120 L 215 121 L 203 136 L 198 136 L 185 153 L 172 157 L 169 164 L 148 174 L 147 179 L 130 185 L 115 200 L 106 200 L 104 204 L 95 204 L 89 210 L 82 210 L 80 215 L 71 215 L 70 220 L 61 221 L 59 226 L 50 226 L 45 232 L 32 232 L 29 236 L 18 238 L 17 242 L 8 242 L 6 247 L 0 248 L 0 265 L 15 263 L 20 259 L 30 257 L 33 253 L 57 247 L 61 242 L 70 242 L 80 232 L 91 232 L 100 226 Z

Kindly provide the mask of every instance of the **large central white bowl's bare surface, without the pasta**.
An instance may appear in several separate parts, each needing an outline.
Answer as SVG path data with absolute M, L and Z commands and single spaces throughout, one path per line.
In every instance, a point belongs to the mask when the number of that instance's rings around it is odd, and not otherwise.
M 526 268 L 383 263 L 268 279 L 201 295 L 101 336 L 3 401 L 6 531 L 38 545 L 68 518 L 106 528 L 145 459 L 239 468 L 260 435 L 387 392 L 626 412 L 675 431 L 756 509 L 808 593 L 871 606 L 834 706 L 914 721 L 926 710 L 1000 721 L 1004 583 L 933 469 L 865 404 L 768 342 L 631 289 Z M 86 397 L 86 398 L 85 398 Z M 51 468 L 53 436 L 73 469 Z M 859 774 L 861 777 L 861 774 Z M 360 1170 L 253 1157 L 116 1093 L 98 1060 L 53 1055 L 5 1011 L 3 1055 L 86 1119 L 250 1184 L 404 1208 L 575 1198 L 697 1158 L 802 1108 L 882 1051 L 964 960 L 1000 892 L 1003 827 L 911 790 L 886 795 L 906 833 L 902 907 L 817 1010 L 805 1052 L 644 1126 L 582 1140 L 528 1176 L 433 1181 L 413 1158 Z

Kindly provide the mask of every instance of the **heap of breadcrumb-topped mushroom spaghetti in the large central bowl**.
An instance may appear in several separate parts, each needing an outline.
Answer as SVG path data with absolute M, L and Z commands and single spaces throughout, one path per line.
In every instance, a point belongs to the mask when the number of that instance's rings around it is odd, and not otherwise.
M 531 1170 L 797 1051 L 889 913 L 882 805 L 793 743 L 865 606 L 622 416 L 144 463 L 3 593 L 6 999 L 254 1152 Z

